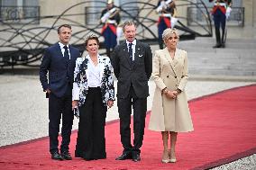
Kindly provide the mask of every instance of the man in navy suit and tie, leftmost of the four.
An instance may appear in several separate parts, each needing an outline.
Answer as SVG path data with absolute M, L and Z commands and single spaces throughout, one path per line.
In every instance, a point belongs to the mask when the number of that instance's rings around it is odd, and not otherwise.
M 71 26 L 60 25 L 59 42 L 45 49 L 40 66 L 40 81 L 49 97 L 49 137 L 52 159 L 70 160 L 69 143 L 74 115 L 72 112 L 72 85 L 79 50 L 69 45 Z M 48 77 L 49 80 L 48 80 Z M 61 116 L 62 114 L 62 116 Z M 59 154 L 59 123 L 62 117 L 61 146 Z

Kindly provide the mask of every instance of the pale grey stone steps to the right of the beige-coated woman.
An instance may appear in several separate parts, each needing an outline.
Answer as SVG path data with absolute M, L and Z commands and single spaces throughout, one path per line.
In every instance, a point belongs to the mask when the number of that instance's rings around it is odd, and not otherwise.
M 187 50 L 189 75 L 256 76 L 256 40 L 227 40 L 224 49 L 213 49 L 214 38 L 180 41 Z

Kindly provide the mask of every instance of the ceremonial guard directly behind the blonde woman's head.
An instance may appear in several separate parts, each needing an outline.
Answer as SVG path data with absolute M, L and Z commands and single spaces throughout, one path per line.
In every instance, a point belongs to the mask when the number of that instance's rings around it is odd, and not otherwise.
M 174 0 L 160 0 L 157 5 L 156 11 L 160 14 L 158 22 L 159 43 L 160 49 L 163 49 L 162 32 L 167 28 L 173 28 L 175 23 L 177 22 L 176 4 Z

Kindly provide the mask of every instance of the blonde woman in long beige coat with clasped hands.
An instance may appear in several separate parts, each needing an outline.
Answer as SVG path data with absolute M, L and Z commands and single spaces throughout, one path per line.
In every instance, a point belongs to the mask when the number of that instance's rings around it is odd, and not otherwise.
M 156 84 L 150 130 L 161 131 L 162 162 L 176 162 L 175 145 L 178 132 L 193 130 L 185 86 L 187 84 L 187 52 L 177 49 L 178 31 L 166 29 L 162 34 L 165 49 L 155 51 L 152 77 Z M 168 139 L 170 136 L 170 149 Z

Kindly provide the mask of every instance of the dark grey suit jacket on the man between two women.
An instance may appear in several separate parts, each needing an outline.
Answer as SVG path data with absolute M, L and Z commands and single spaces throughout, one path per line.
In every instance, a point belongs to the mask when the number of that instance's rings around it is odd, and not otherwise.
M 111 57 L 117 83 L 117 97 L 125 98 L 133 85 L 139 98 L 149 96 L 148 81 L 152 72 L 152 53 L 148 44 L 136 41 L 133 62 L 129 58 L 126 42 L 116 46 Z

